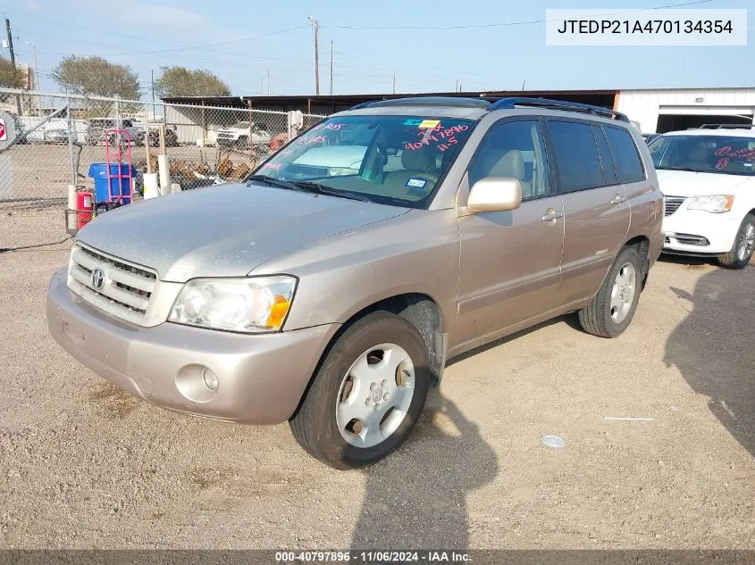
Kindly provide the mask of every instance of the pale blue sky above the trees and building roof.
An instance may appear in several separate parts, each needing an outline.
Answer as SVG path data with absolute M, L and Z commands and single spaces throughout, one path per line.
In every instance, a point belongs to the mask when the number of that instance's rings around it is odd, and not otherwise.
M 547 8 L 608 12 L 684 0 L 0 0 L 17 62 L 34 66 L 41 89 L 67 54 L 96 54 L 138 73 L 143 98 L 161 67 L 212 71 L 234 95 L 315 93 L 314 30 L 320 28 L 320 92 L 333 94 L 755 85 L 755 34 L 748 46 L 546 46 Z M 755 0 L 711 0 L 691 8 L 751 8 Z M 525 23 L 522 23 L 525 22 Z M 531 23 L 532 22 L 532 23 Z M 514 24 L 490 28 L 449 26 Z M 383 28 L 383 29 L 376 29 Z M 436 28 L 436 29 L 384 29 Z M 4 36 L 3 36 L 4 37 Z M 8 57 L 8 50 L 2 54 Z

